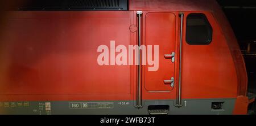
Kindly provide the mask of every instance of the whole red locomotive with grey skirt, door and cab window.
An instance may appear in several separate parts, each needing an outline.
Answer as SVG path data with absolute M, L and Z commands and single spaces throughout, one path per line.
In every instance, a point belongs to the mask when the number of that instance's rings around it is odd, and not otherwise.
M 1 114 L 246 114 L 245 63 L 217 2 L 96 2 L 6 13 Z

